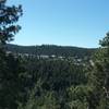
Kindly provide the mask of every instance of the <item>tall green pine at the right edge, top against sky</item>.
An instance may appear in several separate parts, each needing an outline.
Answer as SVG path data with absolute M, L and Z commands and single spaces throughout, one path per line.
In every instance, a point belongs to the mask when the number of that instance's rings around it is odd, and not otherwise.
M 96 109 L 109 109 L 109 33 L 99 44 L 92 73 L 92 101 L 95 100 Z

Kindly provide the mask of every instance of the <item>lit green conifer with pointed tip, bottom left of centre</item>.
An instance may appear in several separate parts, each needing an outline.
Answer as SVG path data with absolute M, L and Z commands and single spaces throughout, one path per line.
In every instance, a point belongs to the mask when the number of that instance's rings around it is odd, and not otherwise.
M 29 93 L 28 100 L 25 106 L 20 109 L 59 109 L 58 99 L 55 92 L 44 90 L 43 81 L 38 81 Z

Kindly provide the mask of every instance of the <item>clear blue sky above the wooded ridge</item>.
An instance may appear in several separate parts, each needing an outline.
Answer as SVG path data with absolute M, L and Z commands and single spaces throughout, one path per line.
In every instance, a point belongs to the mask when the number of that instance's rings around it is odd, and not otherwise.
M 109 31 L 109 0 L 8 0 L 22 4 L 16 45 L 95 48 Z

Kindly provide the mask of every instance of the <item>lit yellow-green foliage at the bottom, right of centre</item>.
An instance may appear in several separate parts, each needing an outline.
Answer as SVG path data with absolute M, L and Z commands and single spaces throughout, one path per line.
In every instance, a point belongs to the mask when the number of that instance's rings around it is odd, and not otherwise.
M 68 88 L 70 109 L 87 109 L 89 107 L 88 97 L 93 88 L 87 85 L 71 86 Z M 68 109 L 69 109 L 68 108 Z

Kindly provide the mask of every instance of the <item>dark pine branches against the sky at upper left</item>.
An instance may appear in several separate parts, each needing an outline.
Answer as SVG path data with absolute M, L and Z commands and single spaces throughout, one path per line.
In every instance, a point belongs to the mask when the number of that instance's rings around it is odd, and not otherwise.
M 0 44 L 11 41 L 13 36 L 21 29 L 20 25 L 15 25 L 19 17 L 22 16 L 22 5 L 9 7 L 7 0 L 0 0 Z

